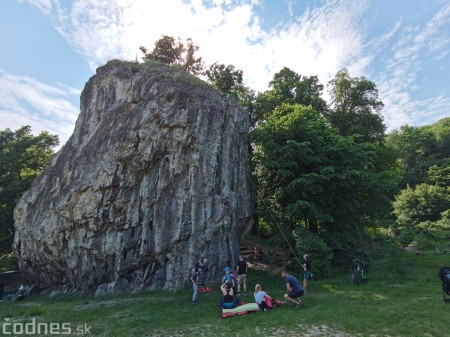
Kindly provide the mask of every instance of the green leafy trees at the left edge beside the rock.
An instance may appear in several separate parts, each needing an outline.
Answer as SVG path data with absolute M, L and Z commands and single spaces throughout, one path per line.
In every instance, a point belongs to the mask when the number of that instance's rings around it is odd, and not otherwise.
M 0 132 L 0 253 L 11 250 L 14 207 L 53 156 L 58 136 L 31 134 L 30 126 Z

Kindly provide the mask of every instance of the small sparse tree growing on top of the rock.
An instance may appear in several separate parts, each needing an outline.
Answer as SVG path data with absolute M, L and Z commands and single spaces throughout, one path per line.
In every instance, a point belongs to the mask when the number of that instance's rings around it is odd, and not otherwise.
M 159 61 L 172 65 L 181 65 L 182 68 L 194 75 L 198 75 L 203 70 L 203 61 L 201 57 L 196 57 L 195 53 L 199 46 L 191 38 L 186 40 L 186 46 L 180 38 L 163 35 L 155 42 L 155 47 L 151 52 L 146 47 L 140 46 L 139 49 L 144 53 L 142 59 L 146 61 Z

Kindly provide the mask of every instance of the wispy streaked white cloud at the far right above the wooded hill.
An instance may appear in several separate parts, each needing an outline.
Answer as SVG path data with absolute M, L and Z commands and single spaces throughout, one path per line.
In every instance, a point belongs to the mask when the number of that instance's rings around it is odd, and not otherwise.
M 424 88 L 418 78 L 427 73 L 430 62 L 442 60 L 448 53 L 450 39 L 442 31 L 450 23 L 450 4 L 444 5 L 423 26 L 408 26 L 397 22 L 384 41 L 395 40 L 393 57 L 386 64 L 386 71 L 380 75 L 380 97 L 385 103 L 383 114 L 389 130 L 400 126 L 432 124 L 450 115 L 448 92 L 433 93 L 422 100 L 412 94 Z M 447 26 L 447 28 L 445 28 Z M 426 57 L 424 57 L 426 55 Z

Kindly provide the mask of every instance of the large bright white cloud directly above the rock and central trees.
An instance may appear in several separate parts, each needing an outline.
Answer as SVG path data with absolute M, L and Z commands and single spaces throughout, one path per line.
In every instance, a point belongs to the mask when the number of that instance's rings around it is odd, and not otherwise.
M 36 6 L 41 2 L 34 0 Z M 57 28 L 92 70 L 110 59 L 140 58 L 139 46 L 152 49 L 162 35 L 191 37 L 208 64 L 233 64 L 257 90 L 266 89 L 284 66 L 326 83 L 343 67 L 363 73 L 370 61 L 360 56 L 365 1 L 325 1 L 297 16 L 288 1 L 292 21 L 272 31 L 261 29 L 255 0 L 215 0 L 210 7 L 201 0 L 75 0 L 70 8 L 64 3 L 53 2 Z

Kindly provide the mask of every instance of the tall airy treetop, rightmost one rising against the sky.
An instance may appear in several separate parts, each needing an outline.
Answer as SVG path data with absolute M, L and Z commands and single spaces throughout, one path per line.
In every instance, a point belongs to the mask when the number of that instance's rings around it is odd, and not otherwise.
M 376 85 L 365 77 L 352 78 L 348 70 L 339 71 L 329 82 L 332 108 L 326 114 L 330 124 L 342 136 L 352 136 L 358 143 L 382 143 L 386 126 Z

